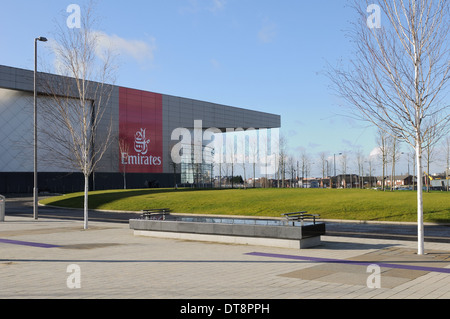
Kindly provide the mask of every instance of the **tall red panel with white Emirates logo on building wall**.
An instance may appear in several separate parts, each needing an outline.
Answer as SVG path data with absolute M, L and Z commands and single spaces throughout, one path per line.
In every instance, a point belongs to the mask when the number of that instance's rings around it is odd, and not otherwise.
M 119 88 L 119 168 L 162 173 L 162 95 Z

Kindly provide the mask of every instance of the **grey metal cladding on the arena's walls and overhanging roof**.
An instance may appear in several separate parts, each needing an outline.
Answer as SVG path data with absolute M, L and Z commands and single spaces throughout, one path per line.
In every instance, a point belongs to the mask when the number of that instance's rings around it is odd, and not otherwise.
M 72 78 L 48 73 L 38 73 L 38 79 L 39 78 L 46 79 L 46 81 L 41 81 L 41 83 L 54 83 L 56 90 L 59 89 L 61 94 L 69 94 L 73 97 L 76 97 L 77 95 L 75 80 Z M 0 88 L 33 92 L 33 80 L 33 71 L 0 65 Z M 67 93 L 68 87 L 72 88 L 72 93 Z M 94 89 L 95 85 L 92 85 L 91 87 Z M 108 104 L 106 105 L 104 118 L 102 119 L 97 131 L 99 139 L 105 135 L 108 124 L 111 120 L 113 137 L 116 135 L 118 136 L 119 134 L 119 87 L 107 85 L 107 88 L 112 89 L 112 94 Z M 46 91 L 42 85 L 39 85 L 39 82 L 37 89 L 38 93 Z M 161 95 L 163 108 L 164 172 L 169 171 L 167 153 L 169 150 L 169 143 L 171 142 L 171 132 L 179 127 L 192 129 L 194 127 L 195 120 L 202 120 L 204 129 L 219 128 L 222 131 L 225 131 L 226 128 L 258 129 L 281 127 L 281 117 L 279 115 L 190 98 L 182 98 L 166 94 Z M 94 97 L 95 94 L 92 92 L 92 98 Z M 117 172 L 118 154 L 118 144 L 111 143 L 110 148 L 101 160 L 99 171 Z

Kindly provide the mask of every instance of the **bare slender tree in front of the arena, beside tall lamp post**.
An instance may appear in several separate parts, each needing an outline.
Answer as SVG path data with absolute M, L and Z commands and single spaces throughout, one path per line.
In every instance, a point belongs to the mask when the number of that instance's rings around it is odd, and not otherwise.
M 112 93 L 115 65 L 106 50 L 99 57 L 92 4 L 83 9 L 81 28 L 59 25 L 54 52 L 57 73 L 43 77 L 49 103 L 43 105 L 44 147 L 61 165 L 84 175 L 84 229 L 88 228 L 89 176 L 108 149 L 112 118 L 105 115 Z M 109 84 L 106 84 L 109 83 Z

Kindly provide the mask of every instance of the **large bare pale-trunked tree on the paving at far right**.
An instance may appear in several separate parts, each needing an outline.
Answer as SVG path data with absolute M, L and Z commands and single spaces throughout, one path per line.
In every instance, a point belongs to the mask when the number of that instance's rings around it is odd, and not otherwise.
M 368 23 L 373 0 L 355 0 L 358 22 L 351 37 L 356 55 L 349 68 L 331 68 L 330 79 L 356 114 L 416 152 L 418 254 L 424 253 L 422 150 L 429 122 L 445 133 L 449 105 L 443 103 L 450 74 L 450 2 L 379 0 L 378 26 Z M 370 17 L 369 17 L 370 18 Z

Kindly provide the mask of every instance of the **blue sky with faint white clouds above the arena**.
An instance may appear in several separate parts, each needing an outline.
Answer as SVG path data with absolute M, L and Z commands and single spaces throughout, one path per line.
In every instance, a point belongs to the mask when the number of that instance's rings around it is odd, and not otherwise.
M 2 0 L 0 64 L 32 70 L 34 38 L 53 39 L 68 6 L 85 3 Z M 103 0 L 95 15 L 120 54 L 116 85 L 279 114 L 288 152 L 306 152 L 315 175 L 320 152 L 356 163 L 358 148 L 377 147 L 376 129 L 346 115 L 325 75 L 352 52 L 346 0 Z M 49 44 L 39 53 L 51 59 Z

